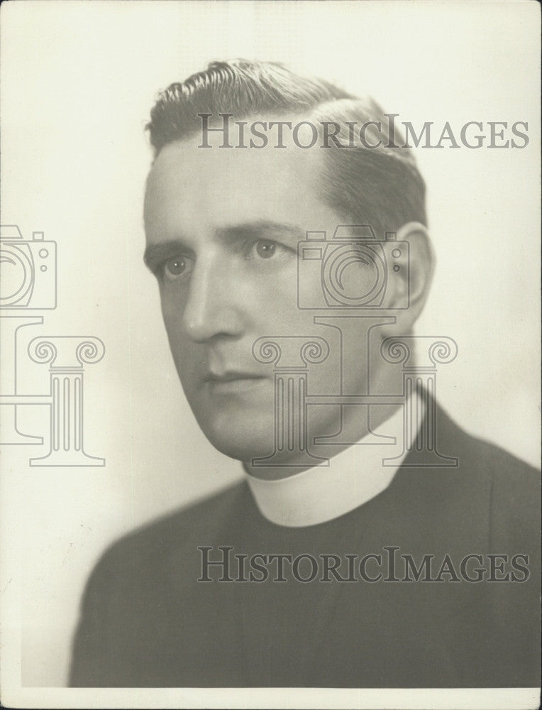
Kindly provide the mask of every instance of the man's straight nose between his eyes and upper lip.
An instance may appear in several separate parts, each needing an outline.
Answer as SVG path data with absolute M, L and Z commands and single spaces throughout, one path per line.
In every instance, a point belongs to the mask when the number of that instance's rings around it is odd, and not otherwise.
M 239 287 L 227 264 L 218 258 L 196 263 L 182 315 L 190 339 L 205 342 L 217 335 L 238 337 L 243 332 Z

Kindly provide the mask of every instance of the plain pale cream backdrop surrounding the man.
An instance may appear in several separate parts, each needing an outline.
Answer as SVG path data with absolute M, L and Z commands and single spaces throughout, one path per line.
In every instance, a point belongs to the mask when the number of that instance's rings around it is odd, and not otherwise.
M 373 94 L 416 127 L 529 121 L 524 150 L 416 151 L 438 256 L 417 332 L 458 342 L 438 383 L 455 420 L 538 461 L 536 5 L 2 6 L 1 221 L 58 245 L 58 307 L 28 339 L 88 334 L 106 344 L 104 361 L 87 368 L 85 401 L 85 447 L 106 467 L 31 469 L 42 449 L 4 452 L 3 622 L 13 643 L 22 630 L 23 685 L 65 684 L 79 597 L 109 542 L 240 474 L 184 403 L 141 259 L 143 125 L 157 89 L 209 60 L 287 62 Z M 22 372 L 30 391 L 46 391 L 46 368 Z

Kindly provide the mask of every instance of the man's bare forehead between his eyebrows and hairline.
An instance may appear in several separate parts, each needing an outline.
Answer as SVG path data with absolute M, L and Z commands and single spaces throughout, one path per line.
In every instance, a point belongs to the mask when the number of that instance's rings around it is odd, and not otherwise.
M 168 143 L 157 155 L 145 192 L 149 242 L 180 229 L 209 234 L 262 220 L 294 224 L 302 231 L 338 224 L 325 198 L 324 151 L 317 146 L 199 146 L 201 136 L 194 134 Z

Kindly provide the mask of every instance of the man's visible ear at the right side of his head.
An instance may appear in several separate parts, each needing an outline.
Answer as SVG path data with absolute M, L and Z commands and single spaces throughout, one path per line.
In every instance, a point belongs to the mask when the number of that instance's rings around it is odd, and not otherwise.
M 402 242 L 409 245 L 408 249 L 402 248 Z M 433 245 L 421 222 L 404 224 L 397 230 L 397 246 L 390 241 L 389 247 L 385 302 L 387 308 L 394 310 L 397 323 L 380 329 L 386 337 L 411 331 L 424 308 L 435 268 Z

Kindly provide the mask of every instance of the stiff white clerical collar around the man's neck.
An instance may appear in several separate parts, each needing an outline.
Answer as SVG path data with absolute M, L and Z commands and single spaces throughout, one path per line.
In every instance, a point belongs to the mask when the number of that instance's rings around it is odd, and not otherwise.
M 404 461 L 425 416 L 424 401 L 418 393 L 412 396 L 416 398 L 411 403 L 412 410 L 418 416 L 414 427 L 406 427 L 409 432 L 404 434 L 403 426 L 403 412 L 409 402 L 373 432 L 394 436 L 395 444 L 363 445 L 367 439 L 363 437 L 358 444 L 329 459 L 329 466 L 314 466 L 284 479 L 258 479 L 245 471 L 260 513 L 276 525 L 304 528 L 350 513 L 382 493 Z M 395 460 L 391 466 L 389 463 L 383 466 L 382 459 Z

